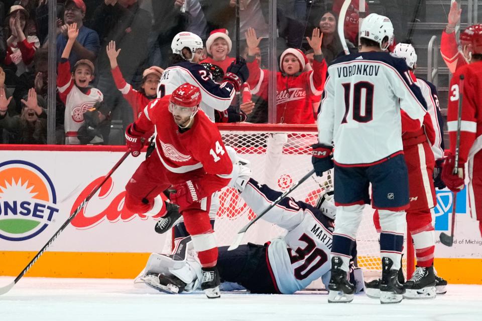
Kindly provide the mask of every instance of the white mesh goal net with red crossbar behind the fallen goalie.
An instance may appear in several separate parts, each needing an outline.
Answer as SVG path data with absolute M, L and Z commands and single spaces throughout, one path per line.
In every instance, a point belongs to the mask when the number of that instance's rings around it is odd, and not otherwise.
M 275 190 L 284 192 L 312 170 L 311 145 L 317 140 L 316 125 L 218 124 L 218 128 L 224 144 L 251 162 L 253 178 Z M 315 206 L 326 179 L 313 175 L 290 196 Z M 214 230 L 218 246 L 225 246 L 231 244 L 239 229 L 256 214 L 232 188 L 219 192 L 219 202 Z M 372 217 L 373 210 L 366 206 L 357 235 L 357 265 L 364 269 L 369 279 L 381 275 L 379 236 Z M 248 230 L 243 243 L 264 244 L 284 232 L 260 220 Z M 406 258 L 404 255 L 404 272 Z

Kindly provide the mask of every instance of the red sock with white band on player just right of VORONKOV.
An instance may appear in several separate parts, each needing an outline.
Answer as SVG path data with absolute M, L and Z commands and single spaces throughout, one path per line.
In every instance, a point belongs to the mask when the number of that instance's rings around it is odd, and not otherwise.
M 430 210 L 407 211 L 407 225 L 412 235 L 417 265 L 421 267 L 432 266 L 435 235 Z

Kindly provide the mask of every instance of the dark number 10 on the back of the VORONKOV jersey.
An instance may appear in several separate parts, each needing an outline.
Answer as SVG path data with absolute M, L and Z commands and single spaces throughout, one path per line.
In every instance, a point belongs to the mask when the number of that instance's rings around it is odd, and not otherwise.
M 345 114 L 341 123 L 347 123 L 346 117 L 350 111 L 351 84 L 341 84 L 345 90 Z M 369 122 L 373 120 L 373 89 L 374 85 L 367 81 L 359 81 L 353 85 L 353 120 L 357 122 Z M 365 92 L 365 101 L 362 94 Z M 363 112 L 362 110 L 365 109 Z

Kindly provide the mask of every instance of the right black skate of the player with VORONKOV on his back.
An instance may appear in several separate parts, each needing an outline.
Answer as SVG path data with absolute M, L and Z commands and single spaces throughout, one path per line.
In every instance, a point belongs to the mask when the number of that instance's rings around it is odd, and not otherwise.
M 399 303 L 403 299 L 405 289 L 398 280 L 399 270 L 392 269 L 393 261 L 388 257 L 382 258 L 382 280 L 380 282 L 380 302 Z

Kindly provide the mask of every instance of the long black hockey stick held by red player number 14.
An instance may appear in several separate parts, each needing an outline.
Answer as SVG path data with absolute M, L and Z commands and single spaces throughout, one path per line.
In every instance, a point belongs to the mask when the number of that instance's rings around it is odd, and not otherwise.
M 126 151 L 126 153 L 121 157 L 121 159 L 119 159 L 119 161 L 117 162 L 117 164 L 114 165 L 114 167 L 110 170 L 109 173 L 107 173 L 107 175 L 104 177 L 104 179 L 102 180 L 102 182 L 100 182 L 100 184 L 92 190 L 92 192 L 90 192 L 90 194 L 87 196 L 87 198 L 79 205 L 79 207 L 77 207 L 77 209 L 74 211 L 74 213 L 67 219 L 67 221 L 65 221 L 64 224 L 62 224 L 62 226 L 57 230 L 57 232 L 55 232 L 55 234 L 50 238 L 50 240 L 42 247 L 42 249 L 34 256 L 34 258 L 30 261 L 30 263 L 22 270 L 22 272 L 20 272 L 20 274 L 15 278 L 15 280 L 13 280 L 11 283 L 9 283 L 8 285 L 6 286 L 3 286 L 3 287 L 0 287 L 0 295 L 2 294 L 5 294 L 7 293 L 8 291 L 10 291 L 15 284 L 17 284 L 17 282 L 22 278 L 22 276 L 25 275 L 25 273 L 27 273 L 28 270 L 30 270 L 30 268 L 32 267 L 32 265 L 34 265 L 34 263 L 38 260 L 38 258 L 44 254 L 45 250 L 47 250 L 47 248 L 54 242 L 54 240 L 60 235 L 60 233 L 67 227 L 67 225 L 69 225 L 69 223 L 77 216 L 77 214 L 79 214 L 80 210 L 82 210 L 82 208 L 87 204 L 87 202 L 92 198 L 92 196 L 94 196 L 94 194 L 100 189 L 100 187 L 105 183 L 105 181 L 107 181 L 107 179 L 112 175 L 112 173 L 114 173 L 114 171 L 119 167 L 121 166 L 121 164 L 124 162 L 124 160 L 127 158 L 127 156 L 129 156 L 129 154 L 131 153 L 131 149 L 128 149 Z

